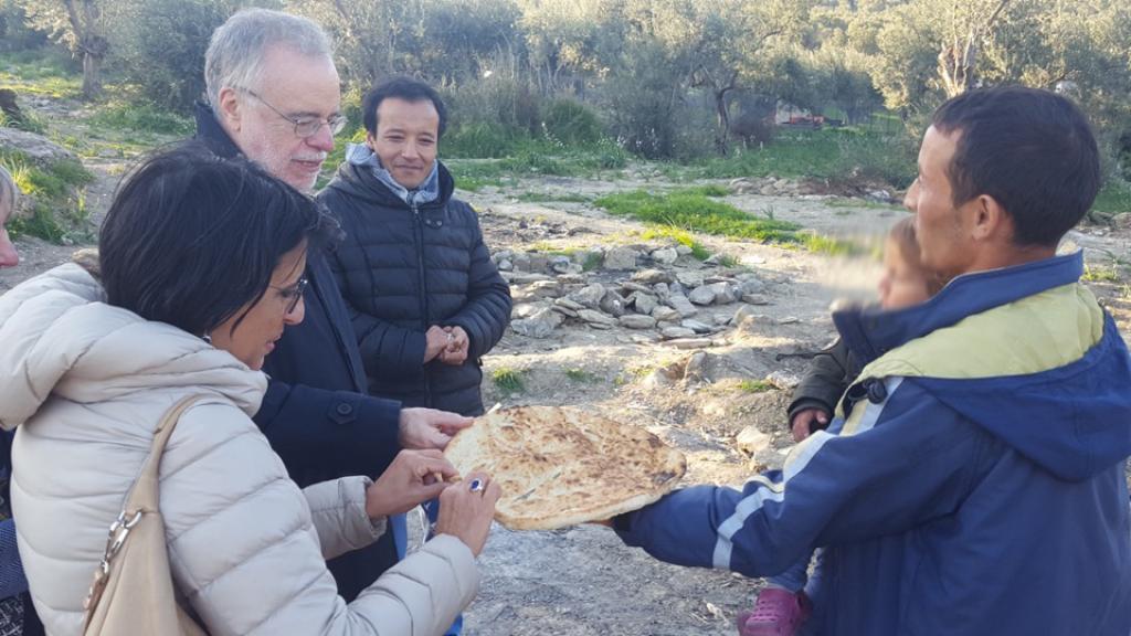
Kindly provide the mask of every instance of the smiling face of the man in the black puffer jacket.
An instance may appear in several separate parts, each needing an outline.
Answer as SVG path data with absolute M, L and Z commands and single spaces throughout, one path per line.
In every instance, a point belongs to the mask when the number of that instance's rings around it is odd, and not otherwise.
M 377 134 L 365 140 L 397 183 L 412 190 L 432 172 L 439 134 L 440 113 L 430 100 L 389 97 L 377 106 Z

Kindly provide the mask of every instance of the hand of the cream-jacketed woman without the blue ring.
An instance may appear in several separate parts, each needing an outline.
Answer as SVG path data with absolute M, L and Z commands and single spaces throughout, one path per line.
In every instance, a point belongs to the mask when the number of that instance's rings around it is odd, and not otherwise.
M 439 450 L 402 450 L 365 491 L 370 518 L 399 515 L 435 499 L 459 471 Z

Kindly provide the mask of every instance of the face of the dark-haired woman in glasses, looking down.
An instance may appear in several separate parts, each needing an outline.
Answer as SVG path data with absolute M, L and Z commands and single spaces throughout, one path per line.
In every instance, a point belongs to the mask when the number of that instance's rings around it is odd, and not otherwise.
M 275 350 L 283 329 L 302 323 L 307 308 L 301 298 L 293 310 L 287 309 L 294 303 L 305 270 L 307 246 L 303 243 L 279 259 L 264 298 L 213 329 L 213 346 L 223 349 L 252 369 L 262 369 L 264 359 Z M 238 320 L 240 325 L 233 329 Z

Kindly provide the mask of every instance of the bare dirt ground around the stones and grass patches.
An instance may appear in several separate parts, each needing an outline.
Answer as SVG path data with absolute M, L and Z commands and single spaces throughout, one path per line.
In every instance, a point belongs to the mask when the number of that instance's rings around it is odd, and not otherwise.
M 100 175 L 88 195 L 97 220 L 122 165 L 96 161 L 88 166 Z M 480 210 L 493 251 L 570 251 L 648 241 L 639 238 L 641 225 L 588 204 L 524 204 L 512 197 L 530 191 L 594 196 L 676 186 L 658 179 L 547 178 L 523 180 L 507 191 L 463 196 Z M 819 197 L 741 195 L 727 200 L 752 214 L 771 210 L 776 218 L 796 221 L 824 234 L 873 240 L 905 214 L 863 203 L 834 207 Z M 696 319 L 720 328 L 693 349 L 681 349 L 677 342 L 664 342 L 650 333 L 598 330 L 584 323 L 567 323 L 544 340 L 508 330 L 484 360 L 486 403 L 579 405 L 644 426 L 688 455 L 688 484 L 739 485 L 754 472 L 779 465 L 791 440 L 783 426 L 788 389 L 777 387 L 788 387 L 789 376 L 803 371 L 806 362 L 795 354 L 821 347 L 831 338 L 828 308 L 834 299 L 873 293 L 879 264 L 873 257 L 834 258 L 751 242 L 697 239 L 713 252 L 734 257 L 739 265 L 691 264 L 689 268 L 699 267 L 707 276 L 756 274 L 766 284 L 765 304 L 752 308 L 752 319 L 741 327 L 722 325 L 742 303 L 701 308 Z M 1093 266 L 1110 267 L 1113 259 L 1128 257 L 1131 232 L 1085 227 L 1072 232 L 1067 249 L 1072 246 L 1083 248 Z M 77 246 L 28 239 L 17 247 L 23 260 L 18 267 L 0 270 L 0 292 L 62 263 Z M 616 285 L 630 274 L 597 269 L 581 278 Z M 575 287 L 581 284 L 573 281 Z M 530 287 L 528 283 L 513 285 L 516 304 L 536 298 Z M 1131 326 L 1126 286 L 1111 281 L 1094 287 L 1126 334 Z M 694 372 L 687 368 L 692 358 L 697 359 Z M 523 388 L 504 392 L 497 387 L 491 376 L 499 370 L 517 371 Z M 743 385 L 771 373 L 777 373 L 774 386 Z M 736 436 L 749 427 L 763 433 L 752 455 L 736 442 Z M 725 571 L 657 562 L 597 526 L 558 532 L 497 527 L 482 567 L 484 584 L 466 614 L 466 633 L 484 636 L 729 635 L 735 614 L 750 605 L 761 585 Z

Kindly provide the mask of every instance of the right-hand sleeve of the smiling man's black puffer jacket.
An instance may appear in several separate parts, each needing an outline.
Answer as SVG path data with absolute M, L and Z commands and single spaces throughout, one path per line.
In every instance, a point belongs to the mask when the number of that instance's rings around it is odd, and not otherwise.
M 470 341 L 467 358 L 477 360 L 502 340 L 502 334 L 510 324 L 511 309 L 510 285 L 502 280 L 491 260 L 491 252 L 483 242 L 483 231 L 477 222 L 467 286 L 467 304 L 446 323 L 467 332 Z

